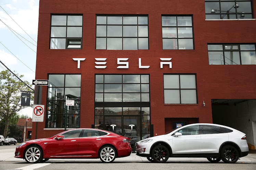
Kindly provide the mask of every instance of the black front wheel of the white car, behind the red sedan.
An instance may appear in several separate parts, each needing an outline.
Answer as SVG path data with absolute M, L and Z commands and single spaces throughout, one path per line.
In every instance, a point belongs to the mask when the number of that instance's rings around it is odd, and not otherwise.
M 156 163 L 164 163 L 170 156 L 169 150 L 164 145 L 156 145 L 151 151 L 151 158 Z

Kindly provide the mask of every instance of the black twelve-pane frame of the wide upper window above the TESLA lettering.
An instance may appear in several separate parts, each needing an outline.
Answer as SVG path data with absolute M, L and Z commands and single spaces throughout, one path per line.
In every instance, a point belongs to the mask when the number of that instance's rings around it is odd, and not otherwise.
M 106 16 L 106 24 L 97 24 L 97 17 L 98 16 Z M 109 16 L 120 16 L 122 17 L 122 24 L 107 24 L 107 17 Z M 124 24 L 123 17 L 137 17 L 137 25 L 136 24 Z M 148 17 L 148 24 L 138 24 L 138 17 Z M 98 36 L 97 37 L 97 26 L 106 26 L 106 36 Z M 107 36 L 107 26 L 122 26 L 122 37 L 108 37 Z M 124 26 L 137 26 L 137 37 L 124 37 Z M 138 26 L 148 26 L 148 37 L 139 37 Z M 105 50 L 148 50 L 149 49 L 149 16 L 148 15 L 104 15 L 104 14 L 97 14 L 96 15 L 96 29 L 95 29 L 95 49 L 103 49 L 97 48 L 97 38 L 106 38 L 106 47 Z M 122 49 L 107 49 L 107 39 L 108 38 L 121 38 L 122 39 Z M 124 49 L 124 38 L 137 38 L 137 49 Z M 148 49 L 139 49 L 139 38 L 147 38 L 148 39 Z

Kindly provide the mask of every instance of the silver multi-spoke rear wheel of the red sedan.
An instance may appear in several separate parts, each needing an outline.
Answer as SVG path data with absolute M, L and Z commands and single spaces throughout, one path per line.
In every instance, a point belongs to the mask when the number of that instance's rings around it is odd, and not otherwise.
M 102 162 L 110 163 L 115 160 L 116 155 L 116 149 L 113 146 L 106 145 L 100 148 L 98 156 Z

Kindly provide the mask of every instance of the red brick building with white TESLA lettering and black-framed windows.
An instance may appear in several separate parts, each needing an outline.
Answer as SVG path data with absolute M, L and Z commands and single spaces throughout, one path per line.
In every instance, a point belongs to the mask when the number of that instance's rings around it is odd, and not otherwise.
M 95 127 L 140 140 L 217 123 L 255 145 L 255 9 L 254 0 L 41 0 L 36 79 L 49 86 L 32 138 Z

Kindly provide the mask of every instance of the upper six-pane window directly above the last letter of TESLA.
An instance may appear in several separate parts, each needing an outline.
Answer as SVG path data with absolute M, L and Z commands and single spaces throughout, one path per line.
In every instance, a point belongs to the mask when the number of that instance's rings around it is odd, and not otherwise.
M 162 16 L 163 49 L 194 49 L 192 16 Z

